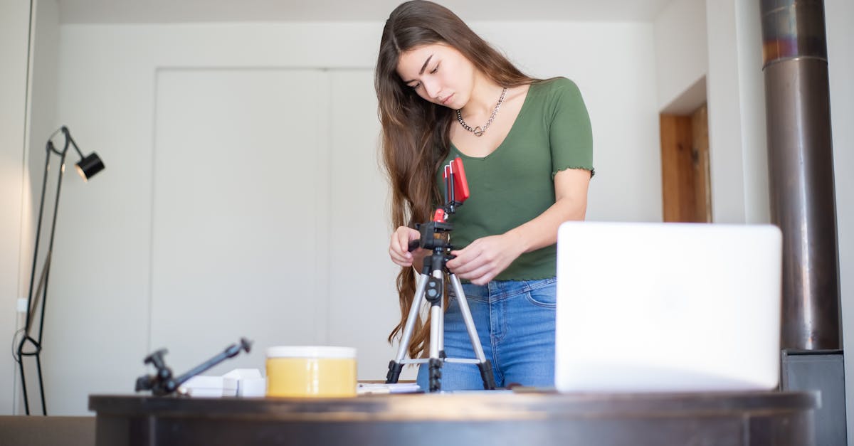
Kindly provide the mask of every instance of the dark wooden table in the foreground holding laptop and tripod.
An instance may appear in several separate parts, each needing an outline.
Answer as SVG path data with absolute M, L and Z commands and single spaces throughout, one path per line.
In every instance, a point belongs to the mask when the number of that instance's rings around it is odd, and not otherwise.
M 98 446 L 812 445 L 814 393 L 90 396 Z

